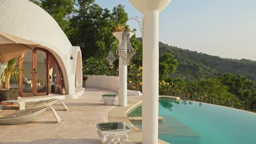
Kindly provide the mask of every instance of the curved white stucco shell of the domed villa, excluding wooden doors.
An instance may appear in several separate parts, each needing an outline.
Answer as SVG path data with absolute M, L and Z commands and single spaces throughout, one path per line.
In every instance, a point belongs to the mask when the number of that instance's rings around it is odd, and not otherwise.
M 71 45 L 46 11 L 27 0 L 0 0 L 0 31 L 32 40 L 53 53 L 62 69 L 66 92 L 74 94 L 75 69 L 82 68 L 82 64 L 76 64 L 80 48 Z

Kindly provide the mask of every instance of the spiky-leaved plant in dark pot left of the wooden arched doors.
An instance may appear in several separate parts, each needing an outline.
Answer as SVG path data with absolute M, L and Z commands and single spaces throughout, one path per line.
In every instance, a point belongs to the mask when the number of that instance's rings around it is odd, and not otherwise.
M 19 73 L 21 71 L 18 63 L 20 57 L 15 57 L 7 63 L 0 64 L 0 101 L 3 100 L 17 100 L 19 96 L 18 88 L 10 88 L 11 80 L 15 79 L 18 82 Z

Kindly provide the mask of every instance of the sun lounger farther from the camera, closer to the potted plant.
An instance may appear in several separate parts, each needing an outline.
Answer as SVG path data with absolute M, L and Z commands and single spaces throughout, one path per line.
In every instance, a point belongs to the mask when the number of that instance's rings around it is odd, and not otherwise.
M 3 110 L 27 110 L 27 109 L 36 109 L 44 106 L 51 106 L 55 104 L 57 101 L 60 101 L 61 104 L 65 107 L 66 111 L 68 110 L 67 106 L 60 99 L 48 99 L 48 100 L 40 100 L 40 101 L 31 101 L 25 102 L 24 100 L 6 100 L 2 101 L 3 103 L 14 103 L 13 105 L 0 105 L 0 109 L 2 106 Z

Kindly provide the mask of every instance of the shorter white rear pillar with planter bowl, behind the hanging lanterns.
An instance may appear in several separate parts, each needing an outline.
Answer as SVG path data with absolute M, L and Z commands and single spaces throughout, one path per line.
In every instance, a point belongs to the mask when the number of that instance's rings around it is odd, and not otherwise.
M 130 33 L 130 38 L 134 33 Z M 115 38 L 119 40 L 119 46 L 122 44 L 122 34 L 123 32 L 114 32 L 113 35 Z M 119 97 L 119 105 L 126 106 L 127 105 L 127 65 L 123 64 L 123 59 L 119 57 L 119 83 L 118 83 L 118 97 Z

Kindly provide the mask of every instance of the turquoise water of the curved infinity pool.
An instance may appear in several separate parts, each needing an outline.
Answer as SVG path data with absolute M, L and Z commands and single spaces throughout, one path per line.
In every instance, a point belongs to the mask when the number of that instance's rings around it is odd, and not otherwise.
M 141 106 L 128 116 L 141 116 Z M 159 101 L 159 139 L 171 144 L 255 144 L 256 113 L 191 101 Z M 141 129 L 141 122 L 132 122 Z

